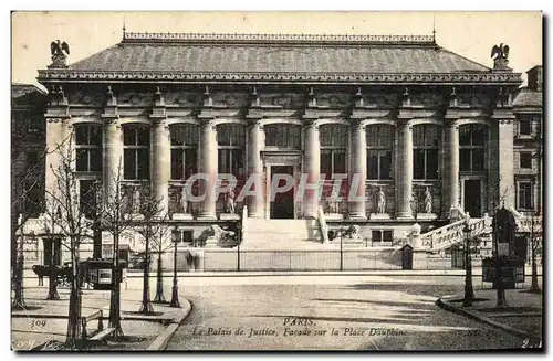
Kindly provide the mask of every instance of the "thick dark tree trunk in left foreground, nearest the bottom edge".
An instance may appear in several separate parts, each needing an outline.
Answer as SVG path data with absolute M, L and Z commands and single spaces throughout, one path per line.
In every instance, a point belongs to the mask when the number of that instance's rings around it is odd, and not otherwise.
M 71 255 L 71 294 L 69 306 L 67 335 L 65 344 L 70 349 L 80 348 L 81 329 L 81 275 L 79 269 L 79 251 L 72 251 Z

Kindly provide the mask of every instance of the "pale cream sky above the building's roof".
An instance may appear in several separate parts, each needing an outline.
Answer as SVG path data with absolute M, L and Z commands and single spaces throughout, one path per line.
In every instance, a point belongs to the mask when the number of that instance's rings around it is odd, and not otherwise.
M 523 73 L 542 64 L 540 12 L 13 12 L 12 76 L 36 84 L 51 63 L 50 43 L 70 45 L 69 63 L 122 40 L 128 32 L 427 34 L 462 56 L 493 66 L 491 49 L 510 47 L 509 65 Z

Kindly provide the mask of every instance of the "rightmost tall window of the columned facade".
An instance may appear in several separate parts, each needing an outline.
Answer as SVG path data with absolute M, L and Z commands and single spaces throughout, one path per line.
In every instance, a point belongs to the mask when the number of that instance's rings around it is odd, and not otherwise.
M 484 170 L 487 141 L 487 126 L 482 124 L 468 124 L 459 127 L 460 171 Z

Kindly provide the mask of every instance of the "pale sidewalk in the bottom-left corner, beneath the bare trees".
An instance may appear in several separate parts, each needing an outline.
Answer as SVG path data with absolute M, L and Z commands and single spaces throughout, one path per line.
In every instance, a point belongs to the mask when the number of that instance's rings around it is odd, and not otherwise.
M 12 350 L 31 350 L 41 344 L 50 344 L 59 349 L 59 342 L 65 341 L 67 328 L 67 310 L 70 290 L 60 287 L 60 300 L 45 300 L 46 286 L 25 288 L 24 300 L 27 310 L 11 312 L 11 347 Z M 170 295 L 166 295 L 170 298 Z M 107 326 L 109 315 L 109 291 L 83 290 L 82 316 L 88 316 L 103 310 L 103 325 Z M 191 310 L 188 300 L 180 298 L 181 308 L 171 308 L 168 305 L 153 304 L 155 315 L 138 314 L 140 308 L 142 290 L 122 289 L 122 328 L 125 341 L 108 341 L 98 346 L 96 350 L 163 350 L 177 328 Z M 97 329 L 98 321 L 90 325 L 90 332 Z M 167 332 L 170 330 L 171 332 Z

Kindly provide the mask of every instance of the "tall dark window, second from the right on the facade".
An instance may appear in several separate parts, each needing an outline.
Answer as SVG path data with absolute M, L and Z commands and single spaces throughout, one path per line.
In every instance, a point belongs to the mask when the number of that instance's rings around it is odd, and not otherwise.
M 439 179 L 441 128 L 424 124 L 413 127 L 413 178 Z

